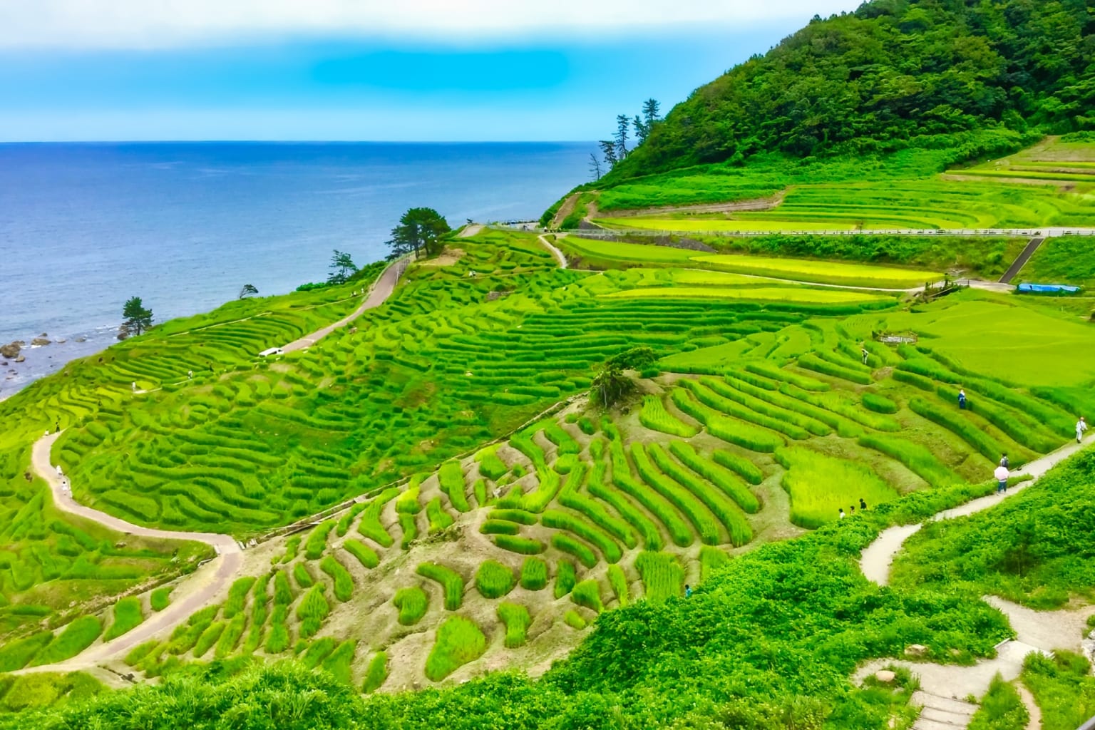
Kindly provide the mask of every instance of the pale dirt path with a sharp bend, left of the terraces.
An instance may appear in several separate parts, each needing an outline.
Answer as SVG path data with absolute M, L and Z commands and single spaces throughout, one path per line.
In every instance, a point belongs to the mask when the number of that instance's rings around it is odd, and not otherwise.
M 60 433 L 59 431 L 38 439 L 35 441 L 31 452 L 31 468 L 49 485 L 49 491 L 53 495 L 54 505 L 57 509 L 70 514 L 78 514 L 128 535 L 161 540 L 189 540 L 205 543 L 214 548 L 217 557 L 198 568 L 175 589 L 171 605 L 159 613 L 153 613 L 145 623 L 127 634 L 111 641 L 92 645 L 80 654 L 64 662 L 19 670 L 14 672 L 16 674 L 25 672 L 73 671 L 93 667 L 110 659 L 119 658 L 141 641 L 151 638 L 161 630 L 181 624 L 192 613 L 209 604 L 214 598 L 228 589 L 231 581 L 237 578 L 237 573 L 243 564 L 243 552 L 239 543 L 231 535 L 220 535 L 210 532 L 172 532 L 169 530 L 142 528 L 118 519 L 113 514 L 107 514 L 106 512 L 101 512 L 77 502 L 72 499 L 65 484 L 62 484 L 60 475 L 57 474 L 57 467 L 49 460 L 50 450 Z

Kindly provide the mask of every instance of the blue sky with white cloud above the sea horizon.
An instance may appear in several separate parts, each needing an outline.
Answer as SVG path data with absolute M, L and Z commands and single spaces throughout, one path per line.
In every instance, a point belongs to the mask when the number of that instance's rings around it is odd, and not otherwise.
M 857 0 L 0 0 L 0 141 L 607 138 Z

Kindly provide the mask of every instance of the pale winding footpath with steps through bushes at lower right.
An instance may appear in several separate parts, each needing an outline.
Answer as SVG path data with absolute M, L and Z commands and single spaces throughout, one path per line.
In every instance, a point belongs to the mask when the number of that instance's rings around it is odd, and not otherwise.
M 989 495 L 943 510 L 926 522 L 965 517 L 999 505 L 1037 482 L 1050 468 L 1093 440 L 1095 437 L 1090 437 L 1084 444 L 1069 443 L 1013 472 L 1015 475 L 1033 477 L 1029 482 L 1010 487 L 1002 495 Z M 860 557 L 863 575 L 872 582 L 888 586 L 894 558 L 904 542 L 919 532 L 923 524 L 897 525 L 879 533 Z M 996 645 L 994 658 L 981 660 L 972 667 L 876 659 L 860 668 L 853 677 L 854 681 L 862 682 L 866 676 L 887 667 L 907 668 L 920 679 L 920 691 L 913 695 L 912 702 L 923 707 L 920 718 L 912 726 L 913 730 L 960 730 L 969 726 L 970 717 L 977 710 L 976 705 L 965 702 L 967 697 L 982 697 L 998 673 L 1006 682 L 1015 680 L 1023 671 L 1023 660 L 1033 651 L 1048 656 L 1060 648 L 1080 650 L 1081 637 L 1086 635 L 1087 630 L 1087 617 L 1095 614 L 1095 606 L 1050 612 L 1034 611 L 995 595 L 987 595 L 983 600 L 1007 616 L 1016 634 L 1015 639 L 1007 639 Z

